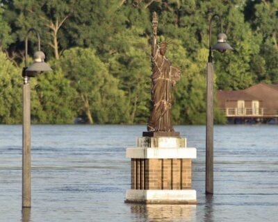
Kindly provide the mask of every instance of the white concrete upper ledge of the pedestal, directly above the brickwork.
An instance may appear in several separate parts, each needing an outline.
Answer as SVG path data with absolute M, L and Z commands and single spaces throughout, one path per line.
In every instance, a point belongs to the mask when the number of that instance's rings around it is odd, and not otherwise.
M 136 159 L 195 159 L 196 148 L 126 148 L 127 158 Z

